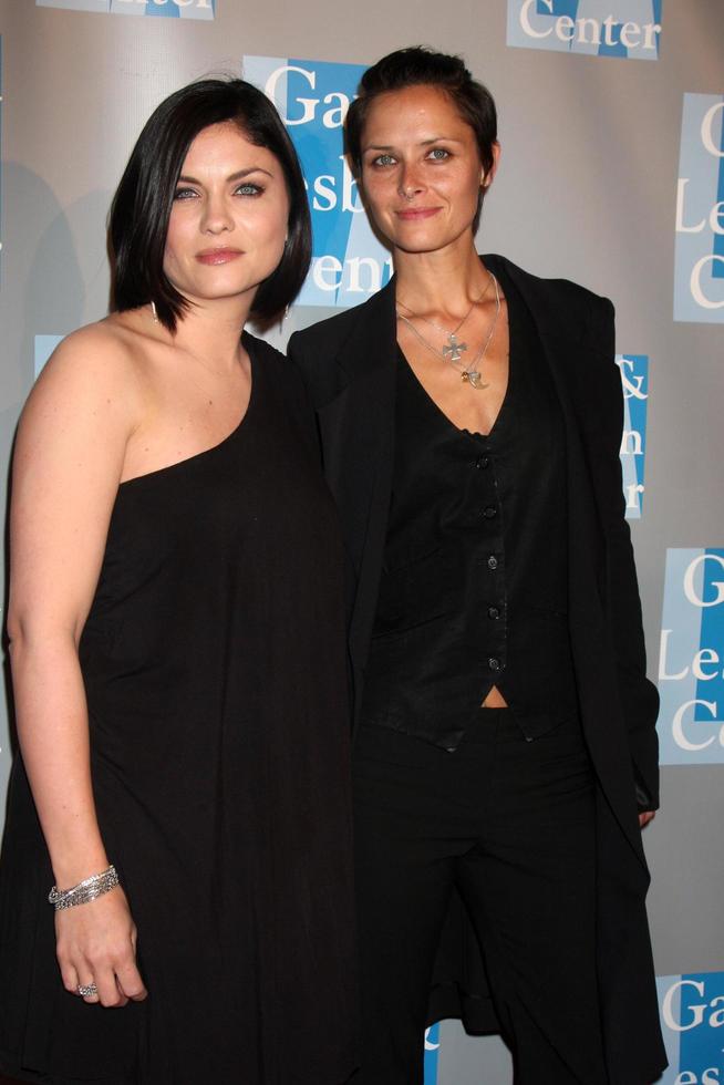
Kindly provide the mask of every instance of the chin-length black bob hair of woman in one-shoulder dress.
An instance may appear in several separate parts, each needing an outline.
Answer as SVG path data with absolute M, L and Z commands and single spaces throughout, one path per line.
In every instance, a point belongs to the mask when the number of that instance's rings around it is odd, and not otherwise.
M 111 308 L 116 312 L 154 302 L 170 331 L 189 302 L 164 272 L 164 250 L 176 183 L 196 136 L 230 121 L 279 162 L 289 195 L 288 239 L 281 262 L 261 283 L 250 316 L 271 322 L 290 304 L 311 259 L 311 225 L 297 153 L 269 99 L 240 79 L 206 79 L 169 95 L 152 113 L 133 148 L 113 198 L 108 221 Z

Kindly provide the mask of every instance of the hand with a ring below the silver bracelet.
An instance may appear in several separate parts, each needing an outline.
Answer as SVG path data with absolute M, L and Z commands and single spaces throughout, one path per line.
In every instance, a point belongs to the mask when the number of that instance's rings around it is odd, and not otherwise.
M 124 1006 L 143 1002 L 147 991 L 136 965 L 136 928 L 126 895 L 116 886 L 95 900 L 55 912 L 56 953 L 71 994 L 94 983 L 85 1002 Z

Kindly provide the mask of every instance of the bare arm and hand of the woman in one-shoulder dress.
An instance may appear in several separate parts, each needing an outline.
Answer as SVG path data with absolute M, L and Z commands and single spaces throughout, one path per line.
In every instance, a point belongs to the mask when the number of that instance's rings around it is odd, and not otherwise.
M 77 645 L 138 417 L 134 378 L 106 330 L 76 333 L 31 393 L 15 446 L 8 632 L 18 736 L 61 889 L 110 861 L 93 803 Z M 144 995 L 122 889 L 58 912 L 56 932 L 69 990 L 95 982 L 107 1005 Z

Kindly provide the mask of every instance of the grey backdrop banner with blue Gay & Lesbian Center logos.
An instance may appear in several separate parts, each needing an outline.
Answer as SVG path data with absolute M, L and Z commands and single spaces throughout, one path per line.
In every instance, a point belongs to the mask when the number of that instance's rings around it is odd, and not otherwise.
M 122 18 L 125 17 L 125 18 Z M 59 339 L 103 316 L 105 217 L 154 106 L 241 73 L 278 106 L 314 229 L 269 338 L 389 281 L 342 124 L 366 64 L 461 52 L 499 106 L 479 248 L 617 306 L 627 515 L 662 808 L 645 831 L 665 1085 L 724 1085 L 724 6 L 721 0 L 0 0 L 0 454 Z M 591 404 L 594 410 L 594 404 Z M 4 479 L 3 472 L 3 479 Z M 12 754 L 0 722 L 0 798 Z M 426 1085 L 509 1085 L 497 1037 L 421 1036 Z

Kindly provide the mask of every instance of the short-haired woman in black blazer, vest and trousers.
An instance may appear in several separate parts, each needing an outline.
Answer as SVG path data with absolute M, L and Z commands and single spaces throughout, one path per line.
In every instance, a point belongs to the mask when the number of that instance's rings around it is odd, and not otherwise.
M 499 1027 L 520 1085 L 644 1085 L 658 698 L 612 307 L 477 256 L 499 147 L 459 59 L 385 56 L 347 137 L 395 277 L 290 351 L 347 541 L 364 1085 L 422 1082 L 443 1016 Z

